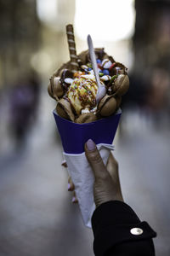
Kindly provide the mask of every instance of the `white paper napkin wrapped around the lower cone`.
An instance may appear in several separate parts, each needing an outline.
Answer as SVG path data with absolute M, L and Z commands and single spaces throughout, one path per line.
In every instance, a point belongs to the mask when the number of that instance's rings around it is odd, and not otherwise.
M 111 144 L 98 144 L 97 148 L 106 165 L 109 154 L 114 147 Z M 83 223 L 91 228 L 91 218 L 94 213 L 94 173 L 88 164 L 85 153 L 67 154 L 63 153 L 68 172 L 75 185 L 75 192 L 82 212 Z

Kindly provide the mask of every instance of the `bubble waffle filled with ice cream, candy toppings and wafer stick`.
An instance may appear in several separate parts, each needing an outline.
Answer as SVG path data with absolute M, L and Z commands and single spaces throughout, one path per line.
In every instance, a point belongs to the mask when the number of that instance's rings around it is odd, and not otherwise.
M 48 93 L 57 102 L 57 113 L 77 123 L 87 123 L 115 113 L 129 87 L 127 67 L 105 53 L 94 49 L 100 84 L 105 85 L 105 96 L 96 101 L 98 85 L 87 51 L 77 55 L 72 26 L 67 26 L 67 39 L 71 61 L 53 74 Z

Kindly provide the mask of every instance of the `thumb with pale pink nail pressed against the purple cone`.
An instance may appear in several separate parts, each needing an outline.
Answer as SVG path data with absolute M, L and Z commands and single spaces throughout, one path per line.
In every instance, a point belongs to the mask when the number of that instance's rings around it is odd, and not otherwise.
M 91 139 L 85 143 L 85 154 L 90 166 L 92 167 L 95 178 L 104 177 L 108 174 L 104 162 L 99 154 L 99 150 Z

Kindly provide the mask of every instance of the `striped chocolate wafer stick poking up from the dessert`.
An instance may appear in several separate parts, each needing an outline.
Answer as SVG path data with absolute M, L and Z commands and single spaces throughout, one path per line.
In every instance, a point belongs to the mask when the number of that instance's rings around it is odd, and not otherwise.
M 67 41 L 69 45 L 69 53 L 71 57 L 71 70 L 72 72 L 75 72 L 78 70 L 77 49 L 75 44 L 73 26 L 71 24 L 66 26 L 66 34 L 67 34 Z

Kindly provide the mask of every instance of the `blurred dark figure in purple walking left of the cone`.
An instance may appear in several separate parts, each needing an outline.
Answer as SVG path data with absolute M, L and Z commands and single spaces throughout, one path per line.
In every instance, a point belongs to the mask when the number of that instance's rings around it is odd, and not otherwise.
M 26 135 L 34 124 L 39 102 L 40 83 L 35 74 L 14 86 L 10 97 L 10 130 L 16 145 L 26 142 Z

